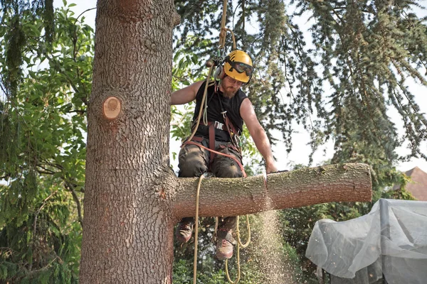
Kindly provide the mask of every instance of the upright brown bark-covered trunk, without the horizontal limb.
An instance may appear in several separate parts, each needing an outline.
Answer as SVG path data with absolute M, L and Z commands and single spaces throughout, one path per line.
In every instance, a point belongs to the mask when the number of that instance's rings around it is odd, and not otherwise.
M 172 283 L 172 205 L 157 180 L 169 165 L 174 14 L 172 0 L 97 2 L 81 283 Z M 122 110 L 108 120 L 111 96 Z

